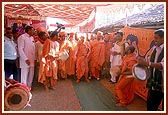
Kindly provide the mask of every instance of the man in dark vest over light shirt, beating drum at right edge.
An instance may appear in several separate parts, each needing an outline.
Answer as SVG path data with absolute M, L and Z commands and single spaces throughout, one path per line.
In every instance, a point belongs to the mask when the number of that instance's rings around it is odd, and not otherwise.
M 138 63 L 150 68 L 150 77 L 147 80 L 148 96 L 147 110 L 157 111 L 162 102 L 162 110 L 164 110 L 164 30 L 154 32 L 154 48 L 150 61 L 138 58 Z

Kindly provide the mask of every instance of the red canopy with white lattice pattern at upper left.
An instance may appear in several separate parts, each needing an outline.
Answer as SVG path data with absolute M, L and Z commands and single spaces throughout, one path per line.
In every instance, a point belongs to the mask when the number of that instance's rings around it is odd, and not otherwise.
M 96 6 L 108 4 L 5 4 L 4 14 L 10 17 L 59 18 L 72 26 L 88 19 Z

